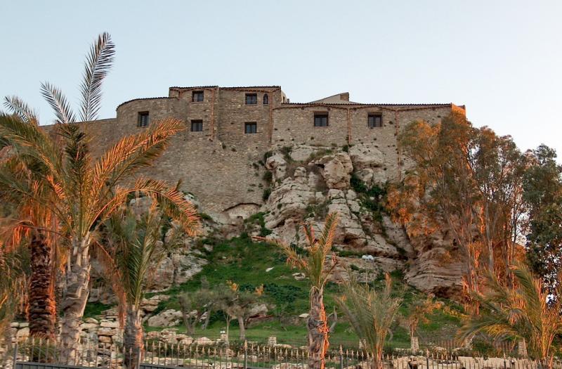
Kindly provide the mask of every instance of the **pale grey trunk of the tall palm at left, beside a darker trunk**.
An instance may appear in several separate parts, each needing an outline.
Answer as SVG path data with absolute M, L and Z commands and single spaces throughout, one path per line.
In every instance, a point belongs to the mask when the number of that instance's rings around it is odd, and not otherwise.
M 88 302 L 90 282 L 89 237 L 73 240 L 74 256 L 66 273 L 67 284 L 63 302 L 63 318 L 60 327 L 60 358 L 63 363 L 72 364 L 77 358 L 80 342 L 80 324 L 86 302 Z

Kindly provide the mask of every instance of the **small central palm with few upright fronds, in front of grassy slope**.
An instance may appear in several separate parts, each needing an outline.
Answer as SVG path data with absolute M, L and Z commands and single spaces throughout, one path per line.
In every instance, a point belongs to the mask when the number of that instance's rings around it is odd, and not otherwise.
M 308 368 L 313 369 L 325 368 L 325 354 L 329 347 L 329 328 L 324 307 L 324 287 L 337 263 L 335 254 L 332 254 L 329 263 L 326 261 L 332 250 L 337 223 L 337 214 L 328 214 L 320 239 L 315 238 L 311 224 L 303 226 L 307 243 L 306 255 L 299 254 L 290 245 L 279 243 L 282 251 L 287 255 L 287 263 L 300 269 L 311 285 L 311 308 L 307 328 Z

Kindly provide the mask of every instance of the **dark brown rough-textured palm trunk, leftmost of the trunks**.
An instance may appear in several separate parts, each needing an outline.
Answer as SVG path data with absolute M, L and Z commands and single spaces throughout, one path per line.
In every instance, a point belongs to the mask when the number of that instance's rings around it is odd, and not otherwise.
M 30 307 L 27 315 L 30 335 L 54 340 L 56 302 L 51 262 L 51 245 L 42 231 L 34 231 L 30 242 Z

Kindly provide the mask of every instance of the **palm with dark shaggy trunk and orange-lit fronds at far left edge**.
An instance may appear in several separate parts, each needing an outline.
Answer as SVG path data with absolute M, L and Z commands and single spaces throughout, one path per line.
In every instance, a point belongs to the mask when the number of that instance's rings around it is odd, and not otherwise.
M 22 121 L 37 126 L 35 113 L 18 98 L 6 98 L 4 105 L 11 109 Z M 35 198 L 50 192 L 41 176 L 46 174 L 34 157 L 6 155 L 0 164 L 0 171 L 8 171 L 20 181 L 27 181 Z M 30 335 L 55 339 L 56 304 L 54 295 L 53 257 L 56 250 L 55 217 L 48 208 L 39 202 L 30 201 L 13 191 L 1 191 L 0 198 L 9 213 L 2 224 L 4 244 L 25 243 L 30 251 L 31 274 L 29 278 L 29 299 L 27 319 L 30 322 Z

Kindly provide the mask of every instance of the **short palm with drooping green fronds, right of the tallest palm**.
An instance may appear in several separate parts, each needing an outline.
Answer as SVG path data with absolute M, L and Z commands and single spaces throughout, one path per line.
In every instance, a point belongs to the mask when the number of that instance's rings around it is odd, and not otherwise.
M 192 223 L 197 217 L 192 216 Z M 178 247 L 179 232 L 170 228 L 171 219 L 162 216 L 157 204 L 145 214 L 135 214 L 128 207 L 124 214 L 114 214 L 104 234 L 107 247 L 99 243 L 101 256 L 113 290 L 124 309 L 124 353 L 126 368 L 137 368 L 143 349 L 141 301 L 149 272 L 173 248 Z M 166 234 L 171 230 L 171 234 Z

